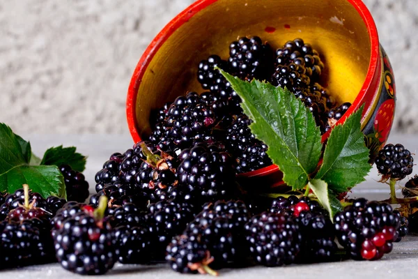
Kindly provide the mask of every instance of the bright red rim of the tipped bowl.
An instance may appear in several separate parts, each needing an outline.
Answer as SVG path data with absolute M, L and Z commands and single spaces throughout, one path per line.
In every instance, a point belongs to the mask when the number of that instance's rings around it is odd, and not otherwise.
M 154 55 L 160 49 L 160 47 L 164 44 L 164 42 L 176 31 L 179 27 L 181 27 L 185 22 L 187 22 L 190 18 L 192 18 L 196 13 L 203 10 L 204 8 L 210 6 L 210 4 L 215 3 L 218 0 L 198 0 L 188 8 L 183 10 L 183 12 L 179 13 L 176 17 L 167 24 L 160 33 L 153 39 L 153 41 L 148 45 L 144 54 L 142 54 L 141 59 L 137 63 L 137 67 L 132 74 L 132 78 L 130 80 L 129 88 L 127 90 L 127 100 L 126 100 L 126 116 L 127 116 L 127 126 L 130 130 L 130 134 L 132 135 L 132 139 L 134 142 L 141 141 L 141 137 L 139 136 L 139 131 L 137 130 L 136 126 L 136 114 L 135 114 L 135 106 L 137 104 L 137 93 L 139 84 L 141 83 L 142 77 L 144 77 L 144 73 L 146 72 L 146 68 L 148 67 L 150 61 L 153 59 Z M 366 79 L 364 80 L 362 89 L 360 89 L 359 94 L 355 98 L 353 105 L 351 105 L 350 109 L 344 114 L 344 117 L 341 118 L 336 125 L 343 123 L 345 119 L 355 112 L 363 103 L 364 98 L 366 96 L 367 90 L 371 86 L 373 82 L 373 77 L 376 73 L 376 68 L 378 67 L 378 63 L 380 61 L 380 45 L 379 45 L 379 38 L 378 38 L 378 30 L 376 29 L 376 24 L 371 16 L 369 9 L 366 5 L 362 2 L 362 0 L 347 0 L 359 13 L 366 24 L 367 31 L 369 31 L 369 38 L 371 43 L 371 59 L 369 63 L 369 68 L 366 73 Z M 363 112 L 365 115 L 365 112 Z M 327 139 L 330 135 L 330 130 L 327 131 L 322 136 L 323 142 Z M 257 169 L 253 172 L 247 172 L 245 176 L 256 176 L 256 175 L 267 175 L 272 172 L 276 172 L 278 169 L 277 165 L 270 165 L 268 167 L 263 167 L 262 169 Z

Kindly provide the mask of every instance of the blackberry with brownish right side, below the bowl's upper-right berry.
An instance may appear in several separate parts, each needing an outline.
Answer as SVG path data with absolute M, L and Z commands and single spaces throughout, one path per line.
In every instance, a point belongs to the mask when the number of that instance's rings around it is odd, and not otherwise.
M 274 86 L 286 87 L 289 91 L 295 93 L 298 89 L 307 89 L 309 86 L 310 80 L 305 72 L 304 66 L 295 63 L 279 65 L 274 71 L 271 81 Z

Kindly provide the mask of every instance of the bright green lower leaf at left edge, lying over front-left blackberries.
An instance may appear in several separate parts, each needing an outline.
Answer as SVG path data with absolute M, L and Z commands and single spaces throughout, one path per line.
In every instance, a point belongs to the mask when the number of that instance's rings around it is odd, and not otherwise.
M 56 166 L 17 165 L 0 175 L 0 192 L 13 193 L 25 183 L 42 197 L 66 198 L 63 175 Z

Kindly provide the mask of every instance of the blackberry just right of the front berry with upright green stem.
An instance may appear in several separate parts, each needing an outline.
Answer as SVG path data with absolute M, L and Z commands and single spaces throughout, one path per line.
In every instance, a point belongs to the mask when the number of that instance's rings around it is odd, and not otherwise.
M 122 264 L 146 264 L 150 262 L 153 237 L 145 227 L 119 226 L 112 232 L 116 258 Z

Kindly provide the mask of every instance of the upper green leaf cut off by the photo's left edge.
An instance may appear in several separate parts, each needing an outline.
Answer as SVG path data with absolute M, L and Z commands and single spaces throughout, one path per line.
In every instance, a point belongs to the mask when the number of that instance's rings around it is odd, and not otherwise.
M 26 158 L 16 135 L 9 126 L 0 123 L 0 174 L 25 163 Z

